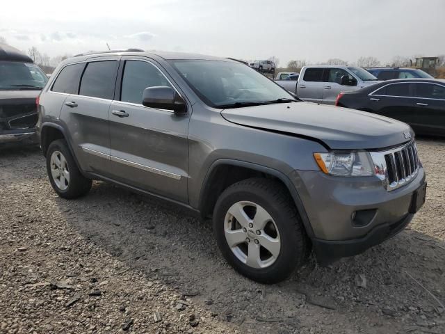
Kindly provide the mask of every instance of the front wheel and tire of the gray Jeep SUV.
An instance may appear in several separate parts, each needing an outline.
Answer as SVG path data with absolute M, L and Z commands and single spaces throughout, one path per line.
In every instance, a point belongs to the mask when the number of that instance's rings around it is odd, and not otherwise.
M 307 259 L 307 236 L 287 189 L 252 178 L 229 186 L 216 202 L 213 232 L 236 271 L 260 283 L 288 278 Z

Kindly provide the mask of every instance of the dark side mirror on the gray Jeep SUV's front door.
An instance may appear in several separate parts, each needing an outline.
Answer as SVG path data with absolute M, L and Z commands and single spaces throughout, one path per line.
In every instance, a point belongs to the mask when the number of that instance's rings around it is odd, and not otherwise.
M 181 96 L 171 87 L 154 86 L 144 89 L 142 104 L 149 108 L 171 110 L 183 115 L 187 113 L 187 106 Z

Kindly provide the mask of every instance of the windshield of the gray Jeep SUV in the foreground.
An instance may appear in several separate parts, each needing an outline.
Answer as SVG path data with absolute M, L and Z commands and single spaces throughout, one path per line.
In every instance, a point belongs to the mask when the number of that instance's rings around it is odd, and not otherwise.
M 263 74 L 241 63 L 174 60 L 170 63 L 209 106 L 229 108 L 296 99 Z

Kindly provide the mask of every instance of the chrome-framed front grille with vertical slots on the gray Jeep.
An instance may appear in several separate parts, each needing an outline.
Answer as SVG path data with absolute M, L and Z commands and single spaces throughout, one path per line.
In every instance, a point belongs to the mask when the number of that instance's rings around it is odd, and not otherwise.
M 414 141 L 394 150 L 371 152 L 376 170 L 387 191 L 409 183 L 419 171 L 419 157 Z

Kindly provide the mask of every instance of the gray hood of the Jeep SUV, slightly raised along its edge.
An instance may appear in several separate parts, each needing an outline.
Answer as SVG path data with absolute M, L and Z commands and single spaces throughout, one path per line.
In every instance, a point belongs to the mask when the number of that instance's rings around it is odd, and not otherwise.
M 414 138 L 411 128 L 398 120 L 311 102 L 225 109 L 221 114 L 238 125 L 309 137 L 333 150 L 388 148 L 406 143 L 407 132 Z

